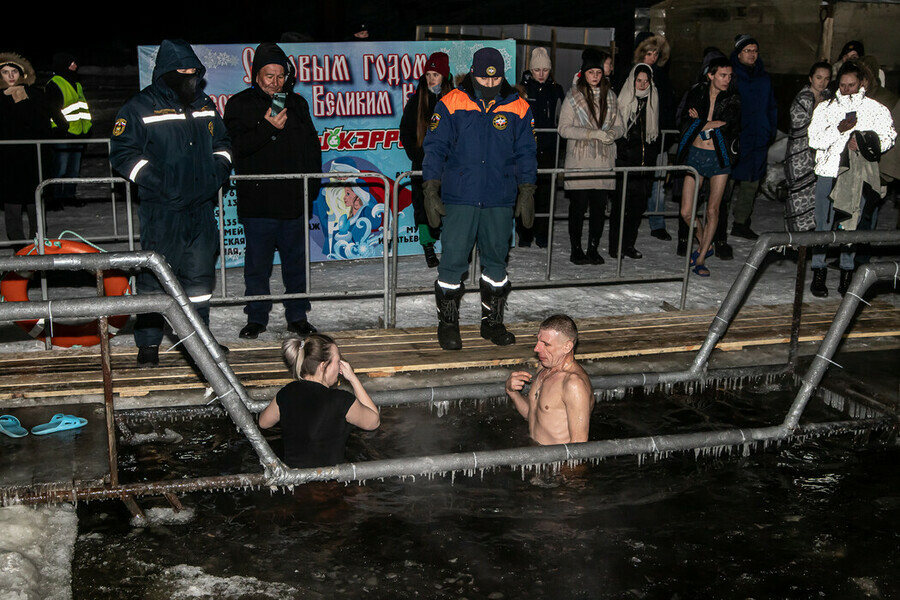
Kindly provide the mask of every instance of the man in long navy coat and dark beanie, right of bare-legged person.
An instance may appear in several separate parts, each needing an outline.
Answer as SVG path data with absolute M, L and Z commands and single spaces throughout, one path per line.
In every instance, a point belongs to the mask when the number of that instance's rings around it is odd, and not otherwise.
M 778 106 L 772 79 L 759 58 L 759 43 L 753 37 L 735 38 L 731 63 L 741 95 L 741 154 L 731 172 L 734 180 L 731 235 L 755 240 L 759 236 L 750 229 L 750 217 L 759 182 L 766 172 L 769 145 L 775 140 Z

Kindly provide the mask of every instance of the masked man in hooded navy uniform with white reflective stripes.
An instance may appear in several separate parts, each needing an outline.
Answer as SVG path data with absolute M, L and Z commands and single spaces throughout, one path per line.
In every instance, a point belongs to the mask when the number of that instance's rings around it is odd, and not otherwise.
M 110 139 L 113 169 L 138 187 L 141 248 L 160 253 L 209 323 L 215 286 L 216 194 L 231 173 L 231 140 L 200 82 L 206 68 L 184 40 L 163 40 L 153 83 L 119 111 Z M 143 271 L 140 294 L 160 293 Z M 138 315 L 138 366 L 159 364 L 161 315 Z

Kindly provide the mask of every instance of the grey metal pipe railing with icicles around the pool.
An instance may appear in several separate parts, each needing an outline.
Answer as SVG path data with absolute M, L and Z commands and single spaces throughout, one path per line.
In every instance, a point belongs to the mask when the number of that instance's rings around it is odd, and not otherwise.
M 703 381 L 708 374 L 710 354 L 725 334 L 742 302 L 756 278 L 759 266 L 768 252 L 787 245 L 838 245 L 843 243 L 898 243 L 900 232 L 813 232 L 764 234 L 755 244 L 740 274 L 729 290 L 721 307 L 709 326 L 706 339 L 696 353 L 691 366 L 675 372 L 649 372 L 625 375 L 598 376 L 592 378 L 595 388 L 617 389 L 622 387 L 652 387 L 661 384 Z M 105 255 L 57 255 L 43 257 L 16 257 L 0 259 L 0 269 L 91 269 L 98 273 L 107 269 L 150 268 L 160 278 L 168 295 L 148 295 L 144 297 L 113 297 L 101 299 L 72 299 L 56 301 L 51 309 L 50 302 L 20 302 L 0 304 L 0 320 L 28 318 L 96 316 L 119 314 L 121 312 L 163 312 L 182 339 L 185 347 L 207 377 L 229 416 L 247 437 L 263 466 L 261 474 L 225 475 L 183 479 L 178 482 L 150 482 L 119 485 L 112 478 L 110 485 L 79 489 L 71 485 L 66 489 L 47 486 L 40 490 L 0 490 L 0 504 L 70 502 L 78 499 L 115 498 L 126 495 L 161 494 L 175 491 L 222 489 L 235 486 L 268 485 L 293 486 L 312 481 L 365 482 L 381 477 L 407 477 L 419 475 L 447 474 L 463 472 L 474 474 L 479 470 L 497 467 L 531 468 L 540 464 L 576 464 L 586 460 L 598 460 L 616 456 L 652 455 L 665 456 L 671 452 L 702 451 L 723 447 L 743 447 L 745 450 L 759 443 L 790 440 L 810 435 L 835 434 L 859 431 L 863 428 L 888 426 L 896 422 L 896 417 L 879 412 L 871 407 L 863 418 L 810 423 L 800 425 L 803 414 L 815 389 L 821 383 L 831 359 L 837 350 L 841 337 L 851 325 L 866 290 L 879 280 L 893 280 L 900 283 L 900 263 L 885 262 L 863 265 L 854 275 L 851 285 L 841 301 L 828 333 L 819 345 L 802 385 L 794 398 L 783 421 L 778 425 L 736 428 L 720 431 L 699 431 L 678 434 L 662 434 L 588 441 L 583 443 L 557 444 L 542 447 L 520 447 L 501 450 L 460 452 L 435 456 L 417 456 L 387 460 L 373 460 L 360 463 L 345 463 L 310 469 L 290 469 L 277 458 L 259 431 L 252 412 L 261 403 L 250 402 L 240 382 L 228 367 L 225 358 L 214 342 L 208 329 L 200 320 L 190 301 L 178 285 L 174 274 L 162 258 L 149 252 L 128 254 L 111 253 Z M 196 334 L 199 334 L 195 336 Z M 104 370 L 106 376 L 106 370 Z M 466 386 L 457 386 L 468 392 Z M 112 405 L 112 389 L 108 388 L 107 410 Z M 502 395 L 503 387 L 498 387 Z M 439 395 L 440 400 L 448 399 L 447 394 Z M 432 392 L 432 401 L 434 394 Z M 391 402 L 393 403 L 393 402 Z M 257 405 L 257 406 L 254 406 Z M 107 417 L 108 427 L 113 420 Z M 115 438 L 112 438 L 113 443 Z M 115 452 L 110 454 L 110 469 L 115 467 Z M 64 484 L 69 486 L 70 484 Z

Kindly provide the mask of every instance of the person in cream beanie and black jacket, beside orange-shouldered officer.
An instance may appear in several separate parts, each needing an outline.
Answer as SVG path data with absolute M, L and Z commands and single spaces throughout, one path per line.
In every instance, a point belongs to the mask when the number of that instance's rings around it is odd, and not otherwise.
M 519 85 L 525 90 L 525 98 L 534 115 L 536 129 L 556 129 L 557 115 L 560 103 L 565 99 L 566 93 L 562 86 L 553 80 L 551 73 L 552 64 L 546 48 L 538 46 L 531 51 L 529 69 L 522 73 Z M 553 169 L 557 165 L 557 134 L 555 132 L 543 132 L 537 134 L 537 160 L 538 169 Z M 535 192 L 535 212 L 546 213 L 550 210 L 551 178 L 549 175 L 538 175 L 538 187 Z M 548 217 L 534 218 L 534 227 L 527 228 L 522 225 L 522 219 L 516 219 L 516 234 L 518 245 L 528 247 L 531 242 L 538 247 L 547 247 Z

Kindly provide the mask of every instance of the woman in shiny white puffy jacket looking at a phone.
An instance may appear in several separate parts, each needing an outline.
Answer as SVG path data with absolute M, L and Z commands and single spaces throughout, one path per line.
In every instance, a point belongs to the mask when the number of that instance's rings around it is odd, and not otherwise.
M 847 62 L 838 73 L 838 93 L 831 100 L 819 104 L 809 124 L 809 146 L 816 151 L 816 231 L 830 231 L 834 226 L 834 208 L 829 194 L 841 164 L 844 148 L 857 152 L 854 131 L 874 131 L 881 142 L 881 152 L 886 152 L 897 137 L 891 113 L 884 106 L 866 98 L 861 85 L 862 74 L 854 62 Z M 857 229 L 874 228 L 870 222 L 860 221 Z M 840 258 L 841 281 L 838 291 L 843 295 L 853 277 L 855 253 L 842 251 Z M 816 248 L 812 257 L 813 281 L 810 291 L 814 296 L 828 295 L 825 287 L 825 249 Z

